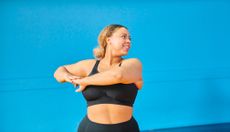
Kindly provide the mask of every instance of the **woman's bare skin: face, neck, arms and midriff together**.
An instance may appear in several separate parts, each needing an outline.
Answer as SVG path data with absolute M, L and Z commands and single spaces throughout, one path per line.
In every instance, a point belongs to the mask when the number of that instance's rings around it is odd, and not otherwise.
M 99 73 L 88 76 L 95 60 L 82 60 L 75 64 L 59 67 L 54 77 L 58 82 L 70 82 L 79 86 L 76 92 L 81 92 L 88 85 L 111 85 L 116 83 L 135 83 L 138 89 L 142 88 L 142 64 L 136 58 L 123 59 L 127 55 L 131 40 L 126 28 L 117 29 L 106 39 L 105 57 L 98 65 Z M 122 65 L 118 65 L 122 62 Z M 135 71 L 135 72 L 133 72 Z M 103 114 L 101 114 L 103 113 Z M 96 104 L 87 108 L 88 118 L 96 123 L 116 124 L 128 121 L 133 114 L 133 108 L 118 104 Z

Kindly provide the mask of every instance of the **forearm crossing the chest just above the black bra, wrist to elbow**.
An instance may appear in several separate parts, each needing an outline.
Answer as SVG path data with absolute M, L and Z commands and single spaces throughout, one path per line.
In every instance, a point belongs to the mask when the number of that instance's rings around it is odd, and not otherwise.
M 85 85 L 112 85 L 121 82 L 121 74 L 118 70 L 108 70 L 82 79 Z

